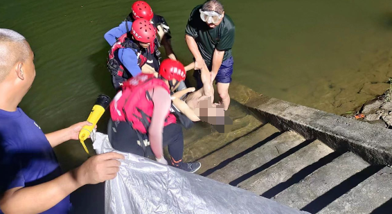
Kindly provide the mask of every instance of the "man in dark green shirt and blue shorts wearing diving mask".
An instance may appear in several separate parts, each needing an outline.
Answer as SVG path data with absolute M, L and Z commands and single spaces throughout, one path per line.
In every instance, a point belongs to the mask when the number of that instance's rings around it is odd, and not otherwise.
M 193 8 L 186 25 L 186 43 L 195 57 L 197 88 L 204 87 L 207 96 L 213 96 L 212 83 L 217 82 L 217 92 L 224 110 L 230 105 L 229 84 L 233 73 L 235 26 L 220 1 L 209 0 Z M 204 66 L 208 68 L 202 69 Z M 201 70 L 202 71 L 199 71 Z M 208 71 L 211 71 L 208 73 Z

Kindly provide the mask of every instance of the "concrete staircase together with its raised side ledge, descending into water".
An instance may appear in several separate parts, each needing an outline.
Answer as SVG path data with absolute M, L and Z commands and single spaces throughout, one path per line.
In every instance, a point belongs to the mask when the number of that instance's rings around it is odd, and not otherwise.
M 280 114 L 286 118 L 271 119 L 273 111 L 260 107 L 260 102 L 268 98 L 240 86 L 235 86 L 235 91 L 247 93 L 238 96 L 233 105 L 235 115 L 246 114 L 234 120 L 235 133 L 185 132 L 186 159 L 202 163 L 199 175 L 309 213 L 392 213 L 392 169 L 386 166 L 390 164 L 391 147 L 372 144 L 366 136 L 360 137 L 363 142 L 355 137 L 345 139 L 344 134 L 329 132 L 326 127 L 303 125 L 307 123 L 305 119 L 289 121 L 287 117 L 293 114 L 287 113 L 287 102 L 282 104 L 286 106 Z M 240 100 L 244 97 L 248 99 Z M 308 118 L 321 114 L 318 112 L 301 114 Z M 334 119 L 327 116 L 328 120 Z M 340 117 L 336 117 L 336 126 L 344 128 Z M 247 121 L 241 123 L 244 118 Z M 391 142 L 390 130 L 372 125 L 364 128 L 362 124 L 353 127 L 358 125 L 356 122 L 342 124 L 357 129 L 358 134 L 377 136 L 377 141 L 385 143 L 377 134 L 381 133 Z M 206 126 L 204 131 L 210 128 Z

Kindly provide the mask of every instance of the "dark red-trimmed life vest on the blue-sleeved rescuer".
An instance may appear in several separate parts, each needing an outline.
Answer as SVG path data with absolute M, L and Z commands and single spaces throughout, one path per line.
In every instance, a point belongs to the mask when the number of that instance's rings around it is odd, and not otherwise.
M 123 78 L 129 78 L 127 77 L 126 74 L 127 72 L 125 72 L 126 69 L 118 60 L 118 56 L 115 54 L 120 48 L 131 48 L 136 54 L 139 67 L 142 67 L 145 64 L 145 62 L 147 62 L 147 57 L 145 57 L 141 53 L 141 49 L 139 48 L 139 46 L 136 43 L 134 43 L 132 39 L 127 37 L 127 33 L 124 33 L 121 37 L 117 39 L 117 41 L 113 44 L 112 48 L 110 48 L 109 57 L 107 58 L 107 68 L 109 69 L 110 73 L 112 73 L 112 75 L 118 75 Z M 152 42 L 150 46 L 148 46 L 148 51 L 150 51 L 151 54 L 154 54 L 155 51 L 154 42 Z

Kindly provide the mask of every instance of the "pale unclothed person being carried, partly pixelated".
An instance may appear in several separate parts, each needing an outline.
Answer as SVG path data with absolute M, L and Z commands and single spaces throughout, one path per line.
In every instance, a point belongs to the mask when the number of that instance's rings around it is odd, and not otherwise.
M 204 94 L 201 88 L 195 91 L 194 87 L 178 91 L 172 95 L 172 102 L 176 109 L 191 121 L 204 121 L 215 127 L 215 130 L 224 133 L 233 121 L 225 112 L 223 105 L 213 103 L 211 97 Z

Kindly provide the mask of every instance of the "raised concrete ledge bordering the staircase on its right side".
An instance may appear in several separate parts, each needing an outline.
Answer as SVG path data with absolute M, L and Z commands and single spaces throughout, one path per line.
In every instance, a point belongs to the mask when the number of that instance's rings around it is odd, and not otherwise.
M 350 150 L 372 164 L 392 164 L 392 130 L 275 98 L 253 98 L 246 105 L 280 129 L 317 138 L 334 150 Z

